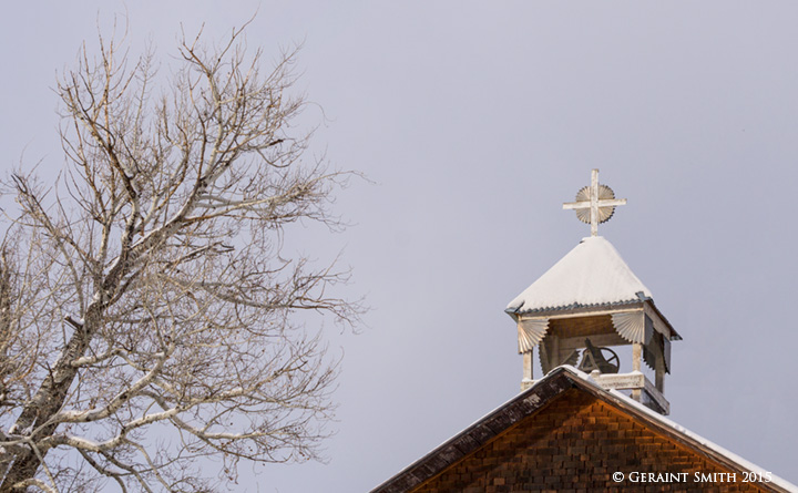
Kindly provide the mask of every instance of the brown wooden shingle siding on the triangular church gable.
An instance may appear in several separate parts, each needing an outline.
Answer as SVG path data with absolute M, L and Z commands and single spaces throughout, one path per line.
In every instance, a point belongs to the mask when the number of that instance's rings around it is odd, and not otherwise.
M 613 481 L 614 472 L 687 473 L 685 483 Z M 566 390 L 412 492 L 759 492 L 743 483 L 695 483 L 694 473 L 734 473 L 607 403 Z

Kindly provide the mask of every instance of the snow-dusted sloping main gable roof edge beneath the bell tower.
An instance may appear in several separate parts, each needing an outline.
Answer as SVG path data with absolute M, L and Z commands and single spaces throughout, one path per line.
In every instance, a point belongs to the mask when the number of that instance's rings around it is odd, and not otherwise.
M 410 464 L 393 477 L 380 484 L 371 493 L 397 493 L 409 491 L 424 481 L 443 472 L 450 465 L 474 453 L 499 434 L 508 431 L 523 419 L 542 410 L 548 403 L 566 392 L 577 389 L 586 392 L 616 410 L 643 422 L 647 428 L 655 430 L 676 442 L 710 458 L 732 471 L 770 474 L 745 459 L 727 451 L 709 440 L 689 431 L 667 418 L 652 411 L 645 405 L 632 400 L 617 390 L 601 388 L 589 374 L 570 366 L 552 370 L 534 386 L 510 399 L 508 402 L 488 413 L 485 417 L 468 427 L 423 458 Z M 798 486 L 788 481 L 770 475 L 766 483 L 755 483 L 768 491 L 798 492 Z

